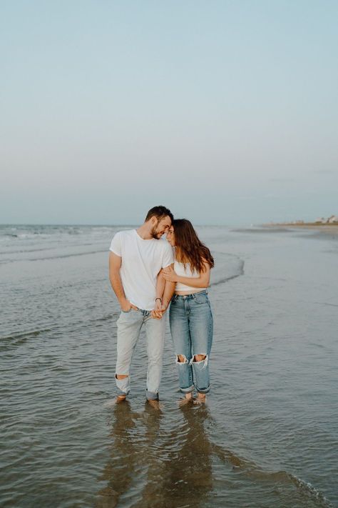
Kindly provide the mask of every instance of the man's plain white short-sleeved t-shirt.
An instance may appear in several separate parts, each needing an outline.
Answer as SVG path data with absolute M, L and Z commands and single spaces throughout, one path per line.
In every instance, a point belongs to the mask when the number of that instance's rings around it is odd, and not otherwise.
M 158 272 L 174 262 L 168 241 L 143 240 L 135 229 L 128 229 L 116 233 L 109 250 L 122 258 L 120 275 L 126 299 L 139 309 L 153 310 Z

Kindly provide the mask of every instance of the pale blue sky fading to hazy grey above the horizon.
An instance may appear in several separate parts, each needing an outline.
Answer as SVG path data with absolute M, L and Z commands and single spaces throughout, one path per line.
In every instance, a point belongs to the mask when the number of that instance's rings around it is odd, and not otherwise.
M 0 223 L 338 215 L 336 0 L 0 0 Z

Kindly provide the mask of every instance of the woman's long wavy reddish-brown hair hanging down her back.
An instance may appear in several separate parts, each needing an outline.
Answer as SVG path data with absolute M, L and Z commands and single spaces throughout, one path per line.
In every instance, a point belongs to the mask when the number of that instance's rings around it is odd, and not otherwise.
M 214 259 L 205 244 L 200 241 L 198 235 L 188 219 L 173 220 L 175 234 L 176 257 L 185 264 L 190 263 L 191 270 L 196 272 L 205 271 L 205 262 L 214 267 Z

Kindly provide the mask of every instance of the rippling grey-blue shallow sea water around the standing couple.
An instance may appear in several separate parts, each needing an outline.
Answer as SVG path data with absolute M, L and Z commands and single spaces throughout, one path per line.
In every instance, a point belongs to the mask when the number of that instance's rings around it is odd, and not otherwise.
M 178 407 L 168 333 L 160 411 L 145 337 L 113 406 L 118 227 L 1 226 L 1 507 L 332 507 L 337 238 L 201 227 L 215 254 L 205 407 Z

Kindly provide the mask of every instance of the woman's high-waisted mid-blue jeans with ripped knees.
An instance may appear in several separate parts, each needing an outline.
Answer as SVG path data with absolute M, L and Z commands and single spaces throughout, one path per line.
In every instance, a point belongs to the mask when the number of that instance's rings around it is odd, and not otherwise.
M 178 365 L 180 391 L 206 394 L 210 391 L 209 355 L 212 345 L 213 321 L 208 292 L 175 294 L 170 303 L 170 332 Z M 178 356 L 184 361 L 179 362 Z M 205 355 L 198 361 L 195 355 Z M 195 384 L 194 384 L 195 383 Z

